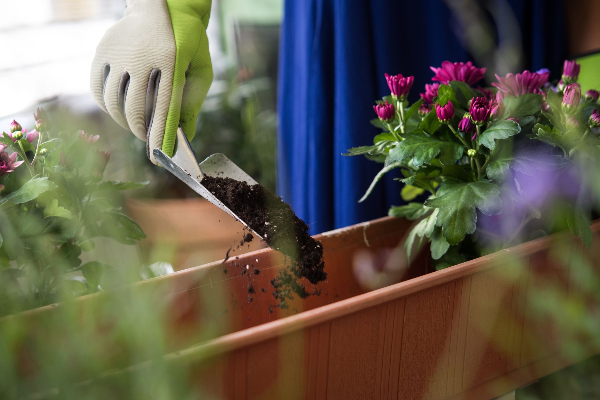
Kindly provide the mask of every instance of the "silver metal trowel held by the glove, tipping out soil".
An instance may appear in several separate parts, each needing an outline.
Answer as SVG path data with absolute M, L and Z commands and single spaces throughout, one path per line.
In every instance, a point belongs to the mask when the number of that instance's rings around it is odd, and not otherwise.
M 253 234 L 260 239 L 264 240 L 260 234 L 256 233 L 246 222 L 244 222 L 239 216 L 227 208 L 227 206 L 221 203 L 221 200 L 217 199 L 208 189 L 202 185 L 202 179 L 205 176 L 214 176 L 215 178 L 231 178 L 236 181 L 246 182 L 248 185 L 256 185 L 254 181 L 245 173 L 240 167 L 236 166 L 233 161 L 225 157 L 224 154 L 217 153 L 209 155 L 206 160 L 198 164 L 196 160 L 196 154 L 191 149 L 190 142 L 184 134 L 184 131 L 179 127 L 177 129 L 177 137 L 175 140 L 175 149 L 173 150 L 173 157 L 166 155 L 161 149 L 155 148 L 152 150 L 154 157 L 158 163 L 164 167 L 167 171 L 175 175 L 179 180 L 188 185 L 197 194 L 210 201 L 215 206 L 219 207 L 224 212 L 233 216 L 237 221 L 242 222 Z

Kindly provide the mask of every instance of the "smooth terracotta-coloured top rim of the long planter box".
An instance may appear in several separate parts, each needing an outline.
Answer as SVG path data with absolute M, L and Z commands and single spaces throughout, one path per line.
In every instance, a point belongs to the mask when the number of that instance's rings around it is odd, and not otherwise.
M 386 216 L 383 218 L 374 219 L 373 221 L 380 221 L 387 218 L 395 217 Z M 368 226 L 370 223 L 370 221 L 367 221 L 356 225 Z M 591 229 L 592 233 L 600 231 L 600 219 L 593 221 Z M 321 236 L 331 236 L 332 234 L 336 234 L 338 231 L 340 230 L 338 229 L 325 232 L 315 235 L 314 237 L 319 239 Z M 369 291 L 367 293 L 359 294 L 358 296 L 349 297 L 348 299 L 339 300 L 335 303 L 320 306 L 308 311 L 299 312 L 298 314 L 289 315 L 288 317 L 269 321 L 257 326 L 239 330 L 237 332 L 227 333 L 226 335 L 219 336 L 218 338 L 209 339 L 208 341 L 193 345 L 183 350 L 166 354 L 165 357 L 169 361 L 177 360 L 178 362 L 194 362 L 194 360 L 199 360 L 207 356 L 215 356 L 227 351 L 236 350 L 241 347 L 247 347 L 248 345 L 274 339 L 277 336 L 293 333 L 295 330 L 311 327 L 331 320 L 332 314 L 336 314 L 333 316 L 333 318 L 338 318 L 352 312 L 362 311 L 364 309 L 388 302 L 389 300 L 409 296 L 417 291 L 436 287 L 439 284 L 455 281 L 456 279 L 463 278 L 471 273 L 480 272 L 493 267 L 498 263 L 506 262 L 508 260 L 506 260 L 505 257 L 508 255 L 512 255 L 514 257 L 523 257 L 535 254 L 541 249 L 547 247 L 553 240 L 567 235 L 571 236 L 572 239 L 576 239 L 576 237 L 572 236 L 570 231 L 549 234 L 547 236 L 539 237 L 538 239 L 530 240 L 529 242 L 512 246 L 508 249 L 502 249 L 491 254 L 475 258 L 474 260 L 465 261 L 464 263 L 456 264 L 439 271 L 427 273 L 403 282 L 398 282 L 397 284 L 392 284 L 383 288 Z M 261 249 L 257 252 L 266 250 L 268 249 Z M 215 263 L 206 264 L 206 266 L 199 266 L 196 268 L 209 267 L 214 264 Z

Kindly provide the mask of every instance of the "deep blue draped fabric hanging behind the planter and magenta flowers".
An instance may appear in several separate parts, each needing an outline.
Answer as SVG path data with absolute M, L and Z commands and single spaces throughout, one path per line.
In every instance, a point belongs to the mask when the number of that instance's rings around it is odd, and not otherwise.
M 526 67 L 559 65 L 562 1 L 502 4 L 521 26 Z M 434 0 L 287 0 L 284 7 L 278 193 L 313 234 L 386 215 L 391 204 L 403 204 L 399 182 L 387 176 L 358 203 L 382 165 L 341 153 L 372 143 L 374 100 L 389 94 L 384 73 L 415 76 L 416 100 L 431 82 L 430 65 L 470 59 L 455 35 L 457 21 Z

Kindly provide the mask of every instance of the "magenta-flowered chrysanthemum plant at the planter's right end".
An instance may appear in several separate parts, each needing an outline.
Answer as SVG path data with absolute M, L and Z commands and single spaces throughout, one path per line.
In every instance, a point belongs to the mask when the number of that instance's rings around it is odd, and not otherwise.
M 436 82 L 413 104 L 413 77 L 386 74 L 391 95 L 371 121 L 382 133 L 346 154 L 383 163 L 359 201 L 400 169 L 395 179 L 411 202 L 389 215 L 416 221 L 404 244 L 409 260 L 425 240 L 440 269 L 566 227 L 590 246 L 600 114 L 598 92 L 581 95 L 579 66 L 565 61 L 556 86 L 540 70 L 496 75 L 491 88 L 474 86 L 485 68 L 470 62 L 431 70 Z

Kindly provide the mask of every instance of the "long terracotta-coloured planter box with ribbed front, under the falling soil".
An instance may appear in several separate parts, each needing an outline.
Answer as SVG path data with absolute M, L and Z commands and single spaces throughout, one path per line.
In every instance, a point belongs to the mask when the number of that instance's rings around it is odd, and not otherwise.
M 426 275 L 423 254 L 410 269 L 389 269 L 400 282 L 369 291 L 356 276 L 385 279 L 364 269 L 366 254 L 377 255 L 375 266 L 390 257 L 388 267 L 401 265 L 391 249 L 408 228 L 382 218 L 319 235 L 329 278 L 320 296 L 293 303 L 295 314 L 269 312 L 268 282 L 282 261 L 271 249 L 131 290 L 164 294 L 174 310 L 170 362 L 191 365 L 190 379 L 218 399 L 493 399 L 600 351 L 600 333 L 571 329 L 560 308 L 540 301 L 598 311 L 580 272 L 585 262 L 598 267 L 600 222 L 591 251 L 556 234 Z M 241 275 L 245 265 L 260 273 Z M 77 301 L 85 309 L 103 296 Z M 35 326 L 58 308 L 22 317 Z M 200 341 L 194 332 L 223 315 L 229 323 Z

